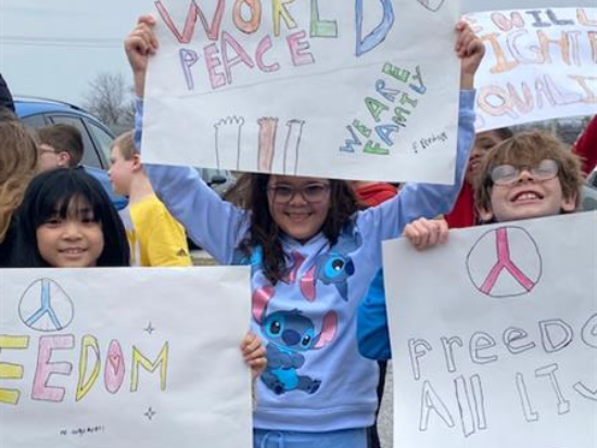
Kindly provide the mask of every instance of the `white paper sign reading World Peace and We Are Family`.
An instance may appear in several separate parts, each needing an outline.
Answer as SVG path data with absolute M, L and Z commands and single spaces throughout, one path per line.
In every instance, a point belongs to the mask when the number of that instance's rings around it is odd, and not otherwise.
M 155 4 L 144 162 L 454 182 L 458 2 Z

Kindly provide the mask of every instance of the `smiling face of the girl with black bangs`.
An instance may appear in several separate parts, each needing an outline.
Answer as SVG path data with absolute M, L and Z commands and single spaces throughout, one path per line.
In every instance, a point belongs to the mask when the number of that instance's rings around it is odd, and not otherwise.
M 36 230 L 41 258 L 54 268 L 96 266 L 104 248 L 101 223 L 88 204 L 73 200 L 66 216 L 56 212 Z

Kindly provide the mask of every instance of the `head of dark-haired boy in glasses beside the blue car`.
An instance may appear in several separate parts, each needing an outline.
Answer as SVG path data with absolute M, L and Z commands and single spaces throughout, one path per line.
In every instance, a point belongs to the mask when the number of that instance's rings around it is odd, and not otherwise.
M 75 168 L 82 159 L 82 137 L 80 131 L 62 123 L 38 130 L 40 140 L 39 169 Z

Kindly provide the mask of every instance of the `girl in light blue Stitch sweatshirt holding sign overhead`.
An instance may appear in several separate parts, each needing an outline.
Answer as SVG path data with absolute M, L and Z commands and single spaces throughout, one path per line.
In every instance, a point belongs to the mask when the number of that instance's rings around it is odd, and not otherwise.
M 148 59 L 157 51 L 154 23 L 141 17 L 125 42 L 139 97 Z M 356 310 L 381 267 L 381 241 L 420 216 L 448 212 L 460 189 L 474 137 L 470 89 L 484 53 L 463 23 L 456 53 L 465 90 L 454 185 L 409 184 L 397 197 L 359 212 L 347 182 L 254 175 L 242 209 L 223 202 L 193 169 L 147 167 L 155 191 L 195 242 L 219 263 L 252 265 L 254 329 L 268 343 L 255 447 L 367 446 L 377 363 L 357 351 Z M 138 138 L 141 115 L 138 102 Z

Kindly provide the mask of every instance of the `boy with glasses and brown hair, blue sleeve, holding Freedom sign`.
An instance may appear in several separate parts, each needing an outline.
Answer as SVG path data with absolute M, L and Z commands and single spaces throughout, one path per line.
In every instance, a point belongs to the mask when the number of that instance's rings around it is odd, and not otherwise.
M 493 148 L 474 184 L 479 217 L 485 223 L 572 213 L 576 210 L 583 176 L 579 158 L 547 132 L 520 132 Z M 444 220 L 420 218 L 403 236 L 418 249 L 445 243 Z M 371 359 L 392 357 L 383 289 L 370 290 L 358 311 L 360 353 Z

